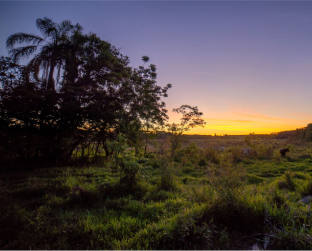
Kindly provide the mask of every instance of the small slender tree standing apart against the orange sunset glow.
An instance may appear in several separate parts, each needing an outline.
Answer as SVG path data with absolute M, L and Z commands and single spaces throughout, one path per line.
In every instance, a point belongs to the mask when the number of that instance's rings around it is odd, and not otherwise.
M 172 157 L 175 157 L 175 150 L 180 141 L 181 135 L 191 128 L 201 126 L 204 127 L 206 122 L 201 119 L 202 112 L 198 110 L 197 106 L 181 105 L 179 108 L 173 109 L 173 112 L 181 113 L 182 118 L 180 124 L 172 123 L 166 124 L 167 131 L 171 133 L 171 150 Z

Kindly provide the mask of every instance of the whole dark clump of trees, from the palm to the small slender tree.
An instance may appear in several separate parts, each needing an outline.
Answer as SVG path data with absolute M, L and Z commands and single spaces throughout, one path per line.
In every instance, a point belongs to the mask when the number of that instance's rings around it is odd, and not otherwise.
M 143 66 L 130 67 L 127 56 L 78 23 L 45 17 L 36 24 L 43 37 L 15 33 L 6 41 L 9 57 L 0 57 L 2 161 L 68 163 L 77 147 L 82 157 L 99 147 L 109 155 L 106 142 L 119 134 L 136 152 L 145 141 L 146 152 L 148 135 L 165 127 L 174 155 L 180 135 L 205 124 L 190 105 L 174 109 L 180 124 L 167 123 L 162 99 L 172 85 L 157 85 L 156 66 L 144 67 L 147 56 Z

